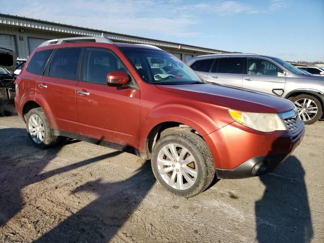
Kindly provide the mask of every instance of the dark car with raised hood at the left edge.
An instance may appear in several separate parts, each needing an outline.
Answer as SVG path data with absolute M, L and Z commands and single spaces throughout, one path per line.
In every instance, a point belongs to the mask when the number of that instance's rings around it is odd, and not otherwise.
M 15 52 L 0 48 L 0 113 L 6 111 L 6 104 L 14 102 L 15 78 L 7 68 L 15 66 L 15 59 Z

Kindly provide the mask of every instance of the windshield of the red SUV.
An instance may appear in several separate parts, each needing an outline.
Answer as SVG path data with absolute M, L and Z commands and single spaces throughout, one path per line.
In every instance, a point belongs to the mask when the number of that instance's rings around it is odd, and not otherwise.
M 198 75 L 170 53 L 142 48 L 120 48 L 149 84 L 204 84 Z

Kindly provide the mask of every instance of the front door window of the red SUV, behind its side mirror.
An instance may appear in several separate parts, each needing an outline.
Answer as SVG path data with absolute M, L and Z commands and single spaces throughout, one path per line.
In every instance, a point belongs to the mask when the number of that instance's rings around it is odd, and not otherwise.
M 85 61 L 84 80 L 98 84 L 106 84 L 109 72 L 125 71 L 124 64 L 108 50 L 88 49 Z

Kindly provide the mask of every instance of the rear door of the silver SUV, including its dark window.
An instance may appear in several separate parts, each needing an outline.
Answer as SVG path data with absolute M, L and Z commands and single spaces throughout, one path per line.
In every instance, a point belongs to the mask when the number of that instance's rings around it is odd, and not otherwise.
M 207 80 L 222 85 L 242 87 L 243 64 L 241 57 L 216 58 Z

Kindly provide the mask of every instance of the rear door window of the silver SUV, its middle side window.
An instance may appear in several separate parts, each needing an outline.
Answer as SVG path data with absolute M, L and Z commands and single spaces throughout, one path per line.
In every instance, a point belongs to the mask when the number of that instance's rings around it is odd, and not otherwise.
M 215 63 L 213 65 L 212 72 L 242 74 L 243 58 L 240 57 L 218 58 L 217 65 L 216 62 L 217 59 L 215 60 Z

